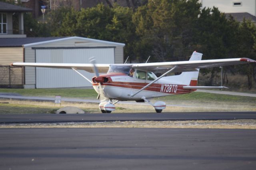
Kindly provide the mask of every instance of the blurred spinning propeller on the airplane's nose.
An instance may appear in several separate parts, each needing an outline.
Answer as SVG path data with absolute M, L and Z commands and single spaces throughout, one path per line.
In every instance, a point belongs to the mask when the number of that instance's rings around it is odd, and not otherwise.
M 100 74 L 99 74 L 99 71 L 98 71 L 98 69 L 97 69 L 97 67 L 96 67 L 96 59 L 95 59 L 95 57 L 90 57 L 90 63 L 93 65 L 94 73 L 95 73 L 95 75 L 96 75 L 96 78 L 95 78 L 94 80 L 95 80 L 95 81 L 98 83 L 98 85 L 99 85 L 99 92 L 100 92 L 100 93 L 98 94 L 97 99 L 100 99 L 100 102 L 106 101 L 107 98 L 106 98 L 106 95 L 104 94 L 104 88 L 102 87 L 102 85 L 101 85 L 101 83 L 100 83 L 100 82 L 102 82 L 101 79 L 102 79 L 103 77 L 99 77 Z

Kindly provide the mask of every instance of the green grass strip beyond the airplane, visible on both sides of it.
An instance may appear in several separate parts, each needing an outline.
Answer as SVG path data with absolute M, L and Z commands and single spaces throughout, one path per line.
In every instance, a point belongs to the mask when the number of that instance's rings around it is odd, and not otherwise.
M 94 89 L 0 89 L 0 93 L 19 93 L 24 96 L 43 96 L 54 97 L 61 95 L 62 97 L 71 98 L 90 98 L 96 99 L 97 93 Z M 237 102 L 237 103 L 256 103 L 256 97 L 220 95 L 203 92 L 193 92 L 184 95 L 171 95 L 161 97 L 164 101 L 218 101 L 218 102 Z

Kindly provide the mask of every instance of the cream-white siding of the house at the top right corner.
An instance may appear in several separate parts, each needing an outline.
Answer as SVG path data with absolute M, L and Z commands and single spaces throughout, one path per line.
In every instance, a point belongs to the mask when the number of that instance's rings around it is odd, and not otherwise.
M 233 2 L 242 2 L 242 6 L 233 6 Z M 201 0 L 201 3 L 202 8 L 215 6 L 225 13 L 248 12 L 256 16 L 256 0 Z

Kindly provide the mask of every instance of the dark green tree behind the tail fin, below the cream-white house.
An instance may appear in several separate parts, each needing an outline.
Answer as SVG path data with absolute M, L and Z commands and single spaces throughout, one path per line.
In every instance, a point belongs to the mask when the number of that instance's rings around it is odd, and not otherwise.
M 203 8 L 196 24 L 197 50 L 204 54 L 204 59 L 234 58 L 238 26 L 238 22 L 233 18 L 228 20 L 218 8 Z M 212 85 L 219 71 L 218 67 L 202 69 L 201 73 L 210 73 L 206 85 Z

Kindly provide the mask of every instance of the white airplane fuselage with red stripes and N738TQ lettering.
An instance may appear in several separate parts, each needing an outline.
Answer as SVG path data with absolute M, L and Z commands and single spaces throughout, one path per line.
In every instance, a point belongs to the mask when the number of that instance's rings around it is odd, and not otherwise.
M 183 89 L 182 84 L 172 83 L 170 81 L 159 79 L 140 93 L 131 97 L 134 93 L 148 85 L 150 80 L 138 79 L 136 76 L 130 77 L 124 73 L 108 73 L 100 75 L 100 77 L 107 78 L 108 81 L 101 83 L 104 95 L 108 99 L 116 99 L 119 101 L 138 101 L 142 97 L 151 99 L 155 97 L 163 97 L 167 95 L 191 93 L 194 90 Z M 95 91 L 100 93 L 100 86 L 98 83 L 92 83 Z

